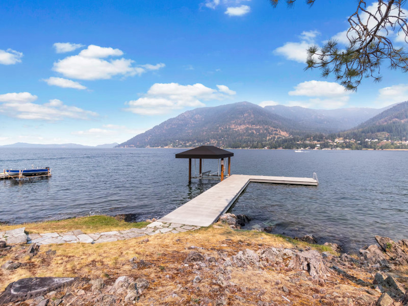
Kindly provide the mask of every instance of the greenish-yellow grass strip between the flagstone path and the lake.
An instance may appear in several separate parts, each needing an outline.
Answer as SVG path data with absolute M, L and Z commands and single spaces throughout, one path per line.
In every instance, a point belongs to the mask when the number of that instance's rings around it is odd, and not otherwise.
M 114 217 L 109 216 L 88 216 L 38 223 L 0 225 L 0 231 L 13 230 L 14 228 L 25 226 L 25 232 L 27 233 L 63 233 L 72 230 L 81 230 L 86 234 L 92 234 L 98 232 L 128 230 L 133 227 L 141 228 L 147 224 L 147 222 L 130 223 L 119 221 Z

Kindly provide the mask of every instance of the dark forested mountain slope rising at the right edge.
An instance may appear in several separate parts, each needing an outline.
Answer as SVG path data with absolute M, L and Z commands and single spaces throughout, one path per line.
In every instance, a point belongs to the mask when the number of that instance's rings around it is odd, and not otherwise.
M 408 138 L 408 101 L 393 106 L 371 119 L 346 131 L 342 136 L 352 138 L 381 138 L 398 139 Z

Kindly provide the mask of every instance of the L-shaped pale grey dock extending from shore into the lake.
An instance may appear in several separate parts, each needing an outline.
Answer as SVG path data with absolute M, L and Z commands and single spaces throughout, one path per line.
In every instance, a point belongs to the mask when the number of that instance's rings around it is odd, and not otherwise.
M 317 177 L 316 177 L 317 179 Z M 234 174 L 159 219 L 159 222 L 209 226 L 216 222 L 239 197 L 249 183 L 272 183 L 317 186 L 310 177 L 285 177 Z

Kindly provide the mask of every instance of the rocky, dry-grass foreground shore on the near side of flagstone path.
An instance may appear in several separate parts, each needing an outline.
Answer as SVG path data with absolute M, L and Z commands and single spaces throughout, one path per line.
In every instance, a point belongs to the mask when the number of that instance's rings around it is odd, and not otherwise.
M 376 236 L 350 256 L 313 236 L 238 231 L 246 218 L 94 245 L 0 242 L 0 304 L 408 305 L 408 240 Z

